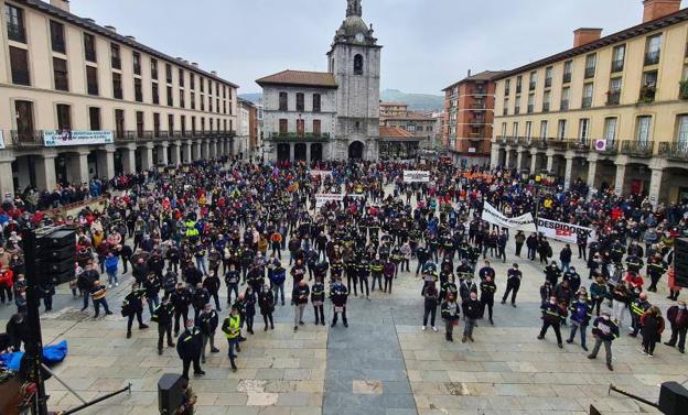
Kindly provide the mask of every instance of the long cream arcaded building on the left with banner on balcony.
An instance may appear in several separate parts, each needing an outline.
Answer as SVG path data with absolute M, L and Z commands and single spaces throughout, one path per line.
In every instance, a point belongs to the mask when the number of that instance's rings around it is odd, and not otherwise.
M 0 1 L 0 192 L 230 153 L 237 86 L 69 12 Z

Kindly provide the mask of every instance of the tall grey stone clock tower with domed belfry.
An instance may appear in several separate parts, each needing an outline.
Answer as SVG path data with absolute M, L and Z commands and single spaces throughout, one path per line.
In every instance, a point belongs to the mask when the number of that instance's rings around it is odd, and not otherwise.
M 346 19 L 327 53 L 329 72 L 337 88 L 335 160 L 376 161 L 379 140 L 379 81 L 383 46 L 373 25 L 363 21 L 361 0 L 347 0 Z

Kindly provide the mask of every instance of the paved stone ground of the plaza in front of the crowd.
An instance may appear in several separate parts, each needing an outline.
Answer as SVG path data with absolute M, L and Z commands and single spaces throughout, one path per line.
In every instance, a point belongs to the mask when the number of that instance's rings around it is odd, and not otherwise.
M 560 248 L 553 243 L 555 256 Z M 493 262 L 497 298 L 513 262 L 509 242 L 507 262 Z M 662 382 L 688 380 L 686 357 L 663 345 L 654 358 L 643 356 L 639 339 L 627 336 L 630 321 L 622 326 L 622 336 L 613 345 L 614 372 L 606 370 L 603 352 L 595 361 L 587 359 L 578 339 L 565 343 L 563 350 L 557 348 L 551 331 L 545 340 L 537 340 L 541 265 L 524 259 L 516 262 L 524 272 L 518 307 L 497 302 L 495 325 L 481 320 L 473 343 L 444 341 L 439 309 L 439 332 L 420 330 L 421 282 L 411 273 L 395 280 L 391 295 L 376 291 L 370 301 L 352 295 L 348 328 L 341 324 L 335 328 L 314 326 L 310 304 L 308 325 L 297 332 L 289 304 L 277 307 L 273 331 L 262 330 L 258 314 L 256 335 L 247 335 L 236 373 L 229 370 L 224 336 L 217 336 L 221 352 L 203 365 L 204 378 L 192 379 L 198 395 L 197 414 L 582 415 L 590 404 L 603 414 L 653 414 L 657 412 L 630 398 L 610 396 L 609 384 L 656 401 Z M 588 285 L 584 263 L 574 260 L 573 264 Z M 93 309 L 82 313 L 82 299 L 73 299 L 66 290 L 61 287 L 55 297 L 56 310 L 43 316 L 45 343 L 61 339 L 69 343 L 69 354 L 55 372 L 85 400 L 128 383 L 132 390 L 130 395 L 110 398 L 83 413 L 158 414 L 158 379 L 163 373 L 181 373 L 181 361 L 172 348 L 158 356 L 155 324 L 143 331 L 135 328 L 132 338 L 126 338 L 119 308 L 129 284 L 108 293 L 115 314 L 98 320 L 93 319 Z M 665 312 L 666 295 L 662 285 L 657 294 L 649 293 L 649 299 Z M 10 306 L 0 308 L 2 324 L 12 312 Z M 223 309 L 221 316 L 226 313 Z M 325 314 L 331 316 L 331 309 Z M 463 323 L 459 330 L 462 328 Z M 562 331 L 568 335 L 568 328 Z M 668 329 L 664 340 L 667 336 Z M 47 391 L 53 409 L 79 404 L 54 379 L 47 382 Z

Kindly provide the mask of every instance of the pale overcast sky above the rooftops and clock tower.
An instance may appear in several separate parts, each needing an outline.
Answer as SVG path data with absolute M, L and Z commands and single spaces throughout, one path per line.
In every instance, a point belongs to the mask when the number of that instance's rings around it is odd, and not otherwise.
M 688 0 L 684 0 L 686 4 Z M 326 70 L 346 0 L 72 0 L 72 12 L 148 46 L 197 62 L 258 92 L 283 69 Z M 642 0 L 363 0 L 383 48 L 381 88 L 441 94 L 484 69 L 510 69 L 572 46 L 573 30 L 603 35 L 638 24 Z

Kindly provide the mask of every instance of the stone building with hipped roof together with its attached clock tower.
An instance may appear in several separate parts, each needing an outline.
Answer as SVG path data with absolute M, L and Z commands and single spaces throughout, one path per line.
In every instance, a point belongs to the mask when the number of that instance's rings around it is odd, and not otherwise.
M 271 160 L 377 160 L 381 46 L 362 14 L 361 0 L 347 0 L 326 73 L 284 70 L 257 80 L 264 88 L 264 134 L 271 141 L 266 145 Z M 308 110 L 314 108 L 308 99 L 314 96 L 319 112 Z

